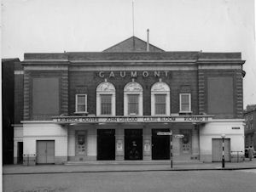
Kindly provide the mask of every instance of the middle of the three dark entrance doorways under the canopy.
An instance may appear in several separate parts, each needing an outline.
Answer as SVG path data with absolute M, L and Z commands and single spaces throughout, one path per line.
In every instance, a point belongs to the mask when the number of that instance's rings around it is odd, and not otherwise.
M 143 160 L 143 129 L 125 129 L 125 160 Z

